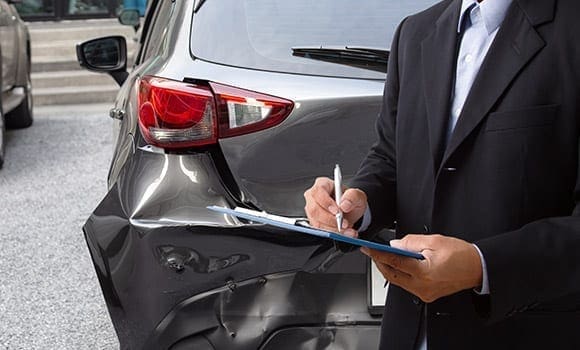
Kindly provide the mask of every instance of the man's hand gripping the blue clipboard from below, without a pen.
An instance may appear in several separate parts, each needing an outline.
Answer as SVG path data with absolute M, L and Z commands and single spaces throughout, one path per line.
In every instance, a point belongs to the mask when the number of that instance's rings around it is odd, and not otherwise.
M 441 235 L 407 235 L 391 246 L 420 252 L 425 260 L 361 248 L 392 284 L 430 303 L 459 291 L 481 286 L 477 249 L 463 240 Z

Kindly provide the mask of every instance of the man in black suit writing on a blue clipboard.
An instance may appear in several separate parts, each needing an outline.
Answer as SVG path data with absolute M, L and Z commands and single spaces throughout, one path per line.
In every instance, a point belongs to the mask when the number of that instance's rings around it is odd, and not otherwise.
M 381 349 L 580 349 L 580 2 L 445 0 L 391 45 L 378 141 L 343 234 L 391 286 Z M 333 183 L 305 193 L 336 229 Z M 356 223 L 356 224 L 355 224 Z M 433 234 L 438 233 L 438 234 Z

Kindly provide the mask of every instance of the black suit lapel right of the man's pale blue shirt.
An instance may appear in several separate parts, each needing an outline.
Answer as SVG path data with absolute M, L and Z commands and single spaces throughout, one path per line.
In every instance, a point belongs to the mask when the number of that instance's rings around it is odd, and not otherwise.
M 538 5 L 535 5 L 538 4 Z M 514 1 L 471 87 L 441 165 L 489 113 L 544 40 L 535 24 L 553 18 L 554 0 Z

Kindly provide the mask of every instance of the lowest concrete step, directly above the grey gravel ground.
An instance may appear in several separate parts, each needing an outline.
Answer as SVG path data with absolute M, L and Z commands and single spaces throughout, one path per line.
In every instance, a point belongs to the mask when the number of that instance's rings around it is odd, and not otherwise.
M 34 88 L 34 105 L 66 105 L 83 103 L 113 103 L 119 92 L 118 86 L 75 86 Z

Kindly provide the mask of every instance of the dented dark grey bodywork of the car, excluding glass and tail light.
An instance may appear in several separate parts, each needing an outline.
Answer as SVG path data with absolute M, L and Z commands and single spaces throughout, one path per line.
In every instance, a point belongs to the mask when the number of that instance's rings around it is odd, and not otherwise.
M 159 6 L 163 13 L 151 12 Z M 380 314 L 369 311 L 364 255 L 206 207 L 302 216 L 315 177 L 339 163 L 348 181 L 373 143 L 383 79 L 199 59 L 189 49 L 193 9 L 192 0 L 150 1 L 136 66 L 113 108 L 123 117 L 109 190 L 83 228 L 121 348 L 376 348 Z M 216 82 L 294 107 L 269 129 L 164 150 L 139 131 L 144 76 Z

